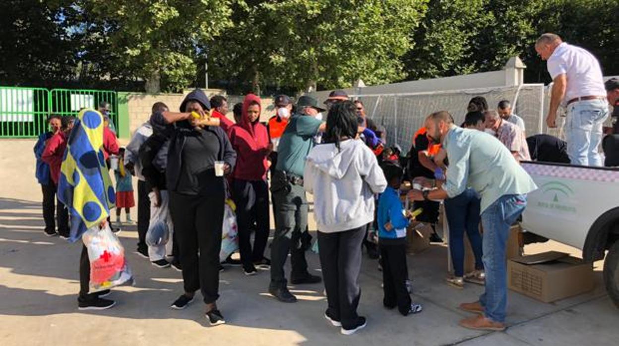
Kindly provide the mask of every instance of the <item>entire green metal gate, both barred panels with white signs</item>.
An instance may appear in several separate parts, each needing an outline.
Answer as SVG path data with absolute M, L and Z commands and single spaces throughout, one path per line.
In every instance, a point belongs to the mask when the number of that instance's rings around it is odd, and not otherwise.
M 118 95 L 111 90 L 0 87 L 0 138 L 32 138 L 46 131 L 48 116 L 76 116 L 82 108 L 110 103 L 118 129 Z

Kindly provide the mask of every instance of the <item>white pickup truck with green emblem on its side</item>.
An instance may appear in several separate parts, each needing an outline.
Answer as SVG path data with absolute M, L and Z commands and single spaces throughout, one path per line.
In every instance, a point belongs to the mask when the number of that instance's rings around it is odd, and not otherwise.
M 604 259 L 604 283 L 619 307 L 619 168 L 523 162 L 538 189 L 527 197 L 524 230 Z M 606 254 L 608 251 L 608 254 Z

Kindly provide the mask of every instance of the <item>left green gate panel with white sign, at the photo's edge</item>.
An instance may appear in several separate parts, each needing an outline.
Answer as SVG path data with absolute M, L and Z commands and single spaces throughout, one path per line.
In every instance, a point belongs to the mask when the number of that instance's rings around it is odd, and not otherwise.
M 48 97 L 43 88 L 0 87 L 0 138 L 37 137 L 45 131 Z

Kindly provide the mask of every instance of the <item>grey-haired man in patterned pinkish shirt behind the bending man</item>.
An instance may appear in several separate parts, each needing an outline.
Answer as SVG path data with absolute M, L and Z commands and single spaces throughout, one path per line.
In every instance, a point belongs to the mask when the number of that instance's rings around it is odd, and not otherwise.
M 495 110 L 487 110 L 483 113 L 487 132 L 491 132 L 507 149 L 520 161 L 530 161 L 529 145 L 527 137 L 517 125 L 509 123 L 499 116 Z

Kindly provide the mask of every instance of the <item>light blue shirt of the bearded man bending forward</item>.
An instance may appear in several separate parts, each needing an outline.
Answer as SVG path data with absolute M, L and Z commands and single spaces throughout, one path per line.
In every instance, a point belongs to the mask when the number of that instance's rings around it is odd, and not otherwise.
M 443 189 L 456 197 L 470 186 L 482 196 L 482 213 L 501 196 L 537 189 L 514 155 L 490 134 L 452 126 L 443 147 L 449 158 Z

